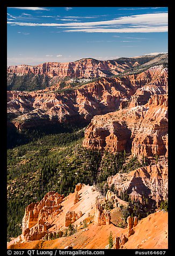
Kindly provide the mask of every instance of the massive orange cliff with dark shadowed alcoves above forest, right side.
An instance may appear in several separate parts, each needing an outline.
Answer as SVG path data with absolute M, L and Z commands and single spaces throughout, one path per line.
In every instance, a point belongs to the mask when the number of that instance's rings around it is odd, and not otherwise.
M 167 95 L 145 105 L 93 117 L 83 146 L 110 152 L 131 151 L 138 158 L 167 156 Z

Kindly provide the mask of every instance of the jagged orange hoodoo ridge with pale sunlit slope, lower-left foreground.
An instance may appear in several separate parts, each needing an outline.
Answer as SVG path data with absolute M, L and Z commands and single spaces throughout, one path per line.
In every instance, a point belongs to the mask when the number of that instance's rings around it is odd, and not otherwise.
M 81 198 L 75 204 L 76 193 L 81 194 Z M 63 231 L 68 229 L 70 224 L 79 227 L 89 215 L 93 219 L 97 196 L 97 190 L 81 183 L 76 185 L 75 193 L 65 198 L 54 191 L 48 192 L 40 202 L 31 203 L 26 207 L 22 234 L 10 244 L 62 237 Z

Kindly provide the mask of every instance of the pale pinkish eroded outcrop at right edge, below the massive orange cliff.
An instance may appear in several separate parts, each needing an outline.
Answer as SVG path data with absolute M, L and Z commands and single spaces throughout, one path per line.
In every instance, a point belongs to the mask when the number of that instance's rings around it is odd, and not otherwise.
M 117 173 L 108 177 L 108 186 L 114 184 L 117 195 L 127 193 L 132 201 L 140 201 L 144 204 L 144 197 L 151 204 L 159 204 L 167 200 L 168 194 L 168 168 L 162 165 L 141 167 L 129 173 Z

